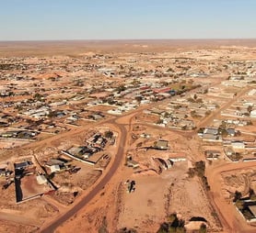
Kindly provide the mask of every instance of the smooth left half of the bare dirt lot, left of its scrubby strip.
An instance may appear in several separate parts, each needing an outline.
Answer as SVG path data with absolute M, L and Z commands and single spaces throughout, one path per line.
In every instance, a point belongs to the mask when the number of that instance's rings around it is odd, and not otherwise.
M 118 227 L 134 227 L 139 232 L 146 232 L 147 225 L 152 231 L 157 231 L 158 223 L 165 218 L 165 193 L 169 183 L 155 175 L 133 175 L 135 181 L 134 193 L 123 194 L 122 213 Z

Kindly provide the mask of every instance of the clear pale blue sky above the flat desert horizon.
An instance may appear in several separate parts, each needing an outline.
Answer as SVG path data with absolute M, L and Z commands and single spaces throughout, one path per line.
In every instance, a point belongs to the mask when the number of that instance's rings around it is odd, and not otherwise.
M 1 0 L 0 40 L 256 39 L 256 0 Z

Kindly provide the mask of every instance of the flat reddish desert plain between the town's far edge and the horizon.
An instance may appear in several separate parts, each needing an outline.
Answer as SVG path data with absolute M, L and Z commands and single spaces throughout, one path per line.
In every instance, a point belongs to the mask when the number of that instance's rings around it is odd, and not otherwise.
M 0 41 L 0 56 L 81 56 L 85 52 L 164 52 L 222 47 L 256 48 L 256 39 L 80 39 Z

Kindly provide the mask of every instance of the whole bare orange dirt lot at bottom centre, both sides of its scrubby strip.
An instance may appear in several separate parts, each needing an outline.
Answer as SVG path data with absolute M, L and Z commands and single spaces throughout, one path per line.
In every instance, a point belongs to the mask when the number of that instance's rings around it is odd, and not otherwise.
M 138 232 L 156 232 L 166 217 L 177 213 L 186 223 L 193 216 L 202 216 L 211 230 L 218 230 L 219 223 L 213 216 L 204 188 L 197 178 L 187 175 L 187 162 L 177 162 L 169 171 L 134 174 L 134 193 L 123 194 L 119 226 L 134 227 Z M 163 201 L 164 200 L 164 201 Z

